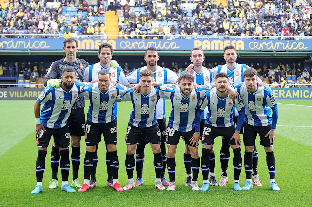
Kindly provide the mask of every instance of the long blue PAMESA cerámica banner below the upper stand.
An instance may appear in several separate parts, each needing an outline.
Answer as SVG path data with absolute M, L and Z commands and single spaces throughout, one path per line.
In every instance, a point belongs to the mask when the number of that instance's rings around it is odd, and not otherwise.
M 156 47 L 159 51 L 191 51 L 199 47 L 204 51 L 222 51 L 227 45 L 234 45 L 238 51 L 312 51 L 310 40 L 219 40 L 205 37 L 197 40 L 166 39 L 78 39 L 79 50 L 98 50 L 102 43 L 110 43 L 116 51 L 140 51 Z M 63 40 L 49 38 L 0 38 L 0 50 L 62 50 Z

